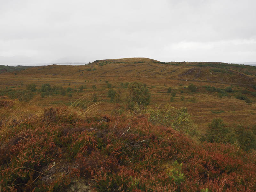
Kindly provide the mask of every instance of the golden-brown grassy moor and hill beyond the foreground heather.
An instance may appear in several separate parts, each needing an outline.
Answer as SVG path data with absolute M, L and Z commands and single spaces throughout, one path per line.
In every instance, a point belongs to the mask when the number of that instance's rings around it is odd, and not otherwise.
M 103 63 L 103 66 L 100 66 Z M 105 65 L 106 64 L 106 65 Z M 200 67 L 203 65 L 202 67 Z M 210 67 L 205 67 L 206 65 Z M 216 66 L 215 68 L 212 66 Z M 87 71 L 87 69 L 96 70 Z M 217 71 L 212 69 L 217 69 Z M 218 71 L 220 70 L 220 72 Z M 125 108 L 125 97 L 127 89 L 122 87 L 120 83 L 140 81 L 146 83 L 151 92 L 150 106 L 165 105 L 170 103 L 170 94 L 167 94 L 168 87 L 172 87 L 173 92 L 176 92 L 176 97 L 171 105 L 176 107 L 185 106 L 192 114 L 192 118 L 199 126 L 200 130 L 204 131 L 205 127 L 214 117 L 221 117 L 226 123 L 232 125 L 243 124 L 253 125 L 255 116 L 255 103 L 250 105 L 244 103 L 243 100 L 235 98 L 236 93 L 230 93 L 230 98 L 217 98 L 216 92 L 206 91 L 204 85 L 212 85 L 224 89 L 230 84 L 233 84 L 233 89 L 239 91 L 247 87 L 248 91 L 254 91 L 250 84 L 255 84 L 255 76 L 246 75 L 245 72 L 250 70 L 251 74 L 256 73 L 256 70 L 251 66 L 228 65 L 224 63 L 162 63 L 156 60 L 147 58 L 127 58 L 116 60 L 100 60 L 93 62 L 89 66 L 63 66 L 51 65 L 29 68 L 17 72 L 14 76 L 12 73 L 6 73 L 0 76 L 1 88 L 6 90 L 6 87 L 15 87 L 15 89 L 25 89 L 26 84 L 35 83 L 39 88 L 44 83 L 59 84 L 64 88 L 76 88 L 80 85 L 85 85 L 86 89 L 83 92 L 73 94 L 70 99 L 67 96 L 50 96 L 41 98 L 40 94 L 36 96 L 36 100 L 42 105 L 56 104 L 68 105 L 82 95 L 88 95 L 88 100 L 91 99 L 92 92 L 96 92 L 99 99 L 105 100 L 101 103 L 101 113 L 111 114 L 115 105 L 109 102 L 107 97 L 108 89 L 105 80 L 108 80 L 113 89 L 121 92 L 123 102 L 121 106 Z M 84 80 L 86 82 L 84 82 Z M 102 80 L 102 81 L 100 81 Z M 21 82 L 24 83 L 21 87 Z M 213 83 L 214 82 L 214 83 Z M 216 83 L 218 82 L 218 83 Z M 196 93 L 188 92 L 184 89 L 190 83 L 198 86 Z M 92 85 L 97 85 L 94 91 Z M 243 85 L 245 84 L 245 85 Z M 165 85 L 165 86 L 164 86 Z M 20 86 L 20 87 L 19 87 Z M 184 93 L 180 93 L 180 91 Z M 246 94 L 251 100 L 255 98 Z M 184 96 L 185 100 L 181 101 L 180 97 Z M 191 99 L 195 98 L 195 102 Z M 224 111 L 222 113 L 214 113 L 215 111 Z

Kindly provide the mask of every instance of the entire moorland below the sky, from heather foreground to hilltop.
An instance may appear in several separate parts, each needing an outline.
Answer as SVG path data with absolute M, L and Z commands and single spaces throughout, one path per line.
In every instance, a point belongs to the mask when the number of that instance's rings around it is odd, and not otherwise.
M 0 74 L 3 191 L 255 191 L 256 67 L 148 58 Z

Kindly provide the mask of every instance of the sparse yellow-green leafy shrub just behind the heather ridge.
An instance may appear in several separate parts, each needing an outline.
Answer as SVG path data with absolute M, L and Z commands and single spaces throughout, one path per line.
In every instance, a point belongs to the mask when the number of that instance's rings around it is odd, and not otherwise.
M 196 134 L 196 127 L 190 119 L 187 108 L 175 108 L 166 105 L 163 108 L 148 108 L 149 121 L 152 124 L 171 126 L 172 129 L 179 132 Z

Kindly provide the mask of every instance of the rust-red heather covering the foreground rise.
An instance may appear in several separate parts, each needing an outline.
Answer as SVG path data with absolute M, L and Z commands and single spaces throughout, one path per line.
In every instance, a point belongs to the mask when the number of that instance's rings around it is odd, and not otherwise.
M 20 105 L 1 108 L 2 191 L 255 191 L 253 153 L 200 142 L 152 114 Z

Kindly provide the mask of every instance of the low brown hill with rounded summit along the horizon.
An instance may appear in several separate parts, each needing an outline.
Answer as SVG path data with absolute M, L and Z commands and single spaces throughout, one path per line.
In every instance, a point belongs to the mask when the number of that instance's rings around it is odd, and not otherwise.
M 80 76 L 146 76 L 209 82 L 254 84 L 256 67 L 210 62 L 160 62 L 148 58 L 96 60 L 89 65 L 49 65 L 28 68 L 18 74 Z

